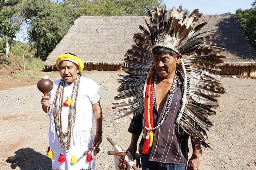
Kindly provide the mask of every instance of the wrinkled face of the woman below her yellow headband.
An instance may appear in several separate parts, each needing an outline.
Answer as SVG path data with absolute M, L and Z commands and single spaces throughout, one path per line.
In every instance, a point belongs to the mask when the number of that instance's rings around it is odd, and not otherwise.
M 75 63 L 65 60 L 59 64 L 59 69 L 60 77 L 68 83 L 68 85 L 72 84 L 76 80 L 77 73 L 79 71 Z

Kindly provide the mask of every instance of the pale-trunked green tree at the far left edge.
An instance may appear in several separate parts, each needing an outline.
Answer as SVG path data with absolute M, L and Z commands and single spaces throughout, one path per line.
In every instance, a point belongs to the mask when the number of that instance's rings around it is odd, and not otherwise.
M 14 14 L 17 12 L 17 8 L 14 6 L 21 2 L 21 0 L 0 0 L 0 33 L 5 38 L 6 43 L 6 55 L 10 51 L 9 38 L 15 38 L 16 32 L 20 29 L 20 25 L 14 22 Z

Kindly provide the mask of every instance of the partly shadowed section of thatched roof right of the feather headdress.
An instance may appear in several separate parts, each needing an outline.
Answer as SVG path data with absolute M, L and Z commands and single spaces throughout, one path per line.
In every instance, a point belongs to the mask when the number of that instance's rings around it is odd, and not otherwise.
M 213 42 L 227 49 L 222 52 L 227 57 L 224 63 L 233 66 L 256 65 L 256 50 L 245 39 L 233 14 L 204 15 L 199 22 L 208 22 L 206 29 L 214 30 L 208 35 L 218 36 Z

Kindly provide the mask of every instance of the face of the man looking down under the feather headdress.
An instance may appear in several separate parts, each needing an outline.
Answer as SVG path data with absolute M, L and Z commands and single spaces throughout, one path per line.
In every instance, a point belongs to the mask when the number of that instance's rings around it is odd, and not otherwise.
M 154 55 L 153 62 L 156 72 L 164 79 L 175 75 L 176 64 L 180 62 L 182 55 L 178 55 L 176 58 L 169 54 Z

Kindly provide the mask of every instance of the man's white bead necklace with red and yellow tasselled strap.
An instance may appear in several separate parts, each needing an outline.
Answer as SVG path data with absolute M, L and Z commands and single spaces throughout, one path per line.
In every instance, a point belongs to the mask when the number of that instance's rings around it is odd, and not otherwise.
M 145 92 L 145 108 L 144 108 L 144 128 L 145 128 L 145 141 L 142 146 L 142 153 L 148 153 L 149 148 L 152 146 L 153 143 L 153 138 L 154 138 L 154 130 L 158 129 L 162 123 L 164 122 L 167 114 L 169 113 L 169 109 L 172 103 L 172 98 L 174 96 L 174 90 L 176 87 L 177 83 L 177 70 L 175 69 L 175 76 L 172 82 L 171 89 L 169 90 L 170 92 L 170 97 L 165 109 L 165 113 L 162 115 L 162 119 L 159 121 L 159 123 L 154 127 L 153 124 L 153 106 L 155 102 L 155 92 L 156 92 L 156 83 L 157 83 L 157 77 L 158 74 L 156 71 L 151 72 L 150 77 L 147 82 L 146 86 L 146 92 Z M 154 82 L 154 83 L 153 83 Z

